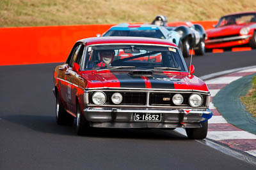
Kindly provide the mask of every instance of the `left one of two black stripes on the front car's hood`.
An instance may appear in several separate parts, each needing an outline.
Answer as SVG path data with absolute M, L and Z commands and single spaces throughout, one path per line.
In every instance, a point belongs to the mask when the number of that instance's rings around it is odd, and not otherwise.
M 113 73 L 120 83 L 120 87 L 145 88 L 145 81 L 141 77 L 132 77 L 128 73 Z

